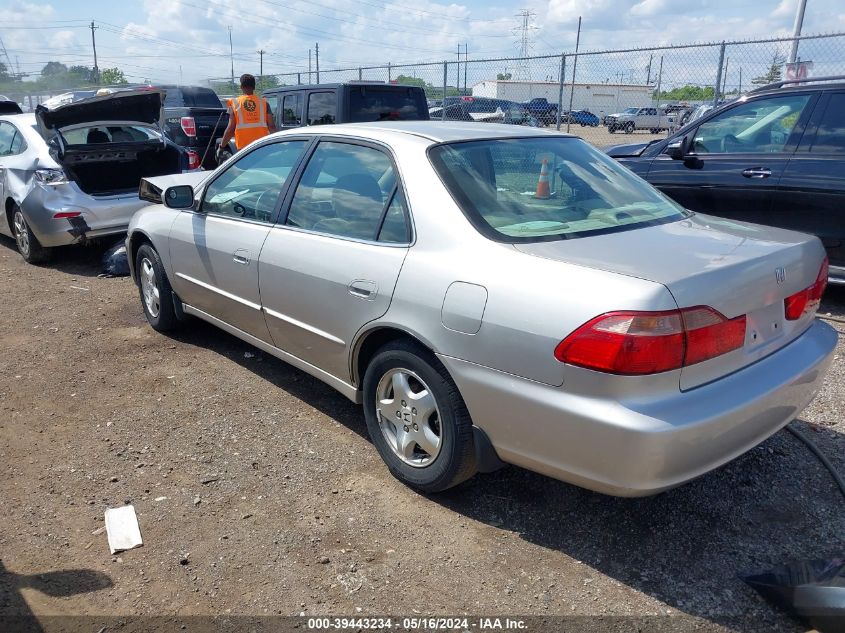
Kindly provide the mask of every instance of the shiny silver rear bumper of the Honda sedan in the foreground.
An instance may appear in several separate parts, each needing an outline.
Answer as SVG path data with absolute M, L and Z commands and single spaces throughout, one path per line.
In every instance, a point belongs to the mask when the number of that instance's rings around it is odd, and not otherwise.
M 816 321 L 798 339 L 690 391 L 631 401 L 567 393 L 441 356 L 499 457 L 605 494 L 678 486 L 753 448 L 793 420 L 822 385 L 836 331 Z

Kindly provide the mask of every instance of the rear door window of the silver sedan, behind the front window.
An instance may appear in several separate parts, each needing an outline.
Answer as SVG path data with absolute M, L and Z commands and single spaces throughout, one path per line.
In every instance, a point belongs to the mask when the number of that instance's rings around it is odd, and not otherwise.
M 286 224 L 375 240 L 395 184 L 393 163 L 384 152 L 361 145 L 322 142 L 296 188 Z

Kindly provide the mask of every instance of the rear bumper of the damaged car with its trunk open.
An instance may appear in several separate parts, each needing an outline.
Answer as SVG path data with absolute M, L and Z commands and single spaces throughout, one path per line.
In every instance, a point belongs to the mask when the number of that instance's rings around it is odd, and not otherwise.
M 146 204 L 136 192 L 90 196 L 75 183 L 68 183 L 33 187 L 21 210 L 39 243 L 49 248 L 125 233 L 132 215 Z M 67 212 L 79 216 L 54 217 Z

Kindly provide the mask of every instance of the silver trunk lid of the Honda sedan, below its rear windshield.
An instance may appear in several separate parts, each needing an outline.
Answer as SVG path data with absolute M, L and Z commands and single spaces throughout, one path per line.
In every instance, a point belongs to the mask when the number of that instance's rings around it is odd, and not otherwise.
M 811 235 L 706 215 L 607 235 L 517 244 L 515 248 L 537 257 L 663 284 L 679 308 L 706 305 L 728 319 L 746 315 L 745 345 L 684 367 L 681 389 L 737 371 L 806 330 L 812 317 L 787 321 L 783 300 L 815 282 L 824 257 L 821 243 Z

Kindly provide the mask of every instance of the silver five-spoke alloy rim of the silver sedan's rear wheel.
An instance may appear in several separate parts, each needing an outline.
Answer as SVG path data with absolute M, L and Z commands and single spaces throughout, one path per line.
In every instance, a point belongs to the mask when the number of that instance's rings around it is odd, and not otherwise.
M 376 418 L 384 439 L 409 466 L 423 468 L 440 454 L 443 433 L 437 401 L 409 369 L 390 369 L 376 388 Z

